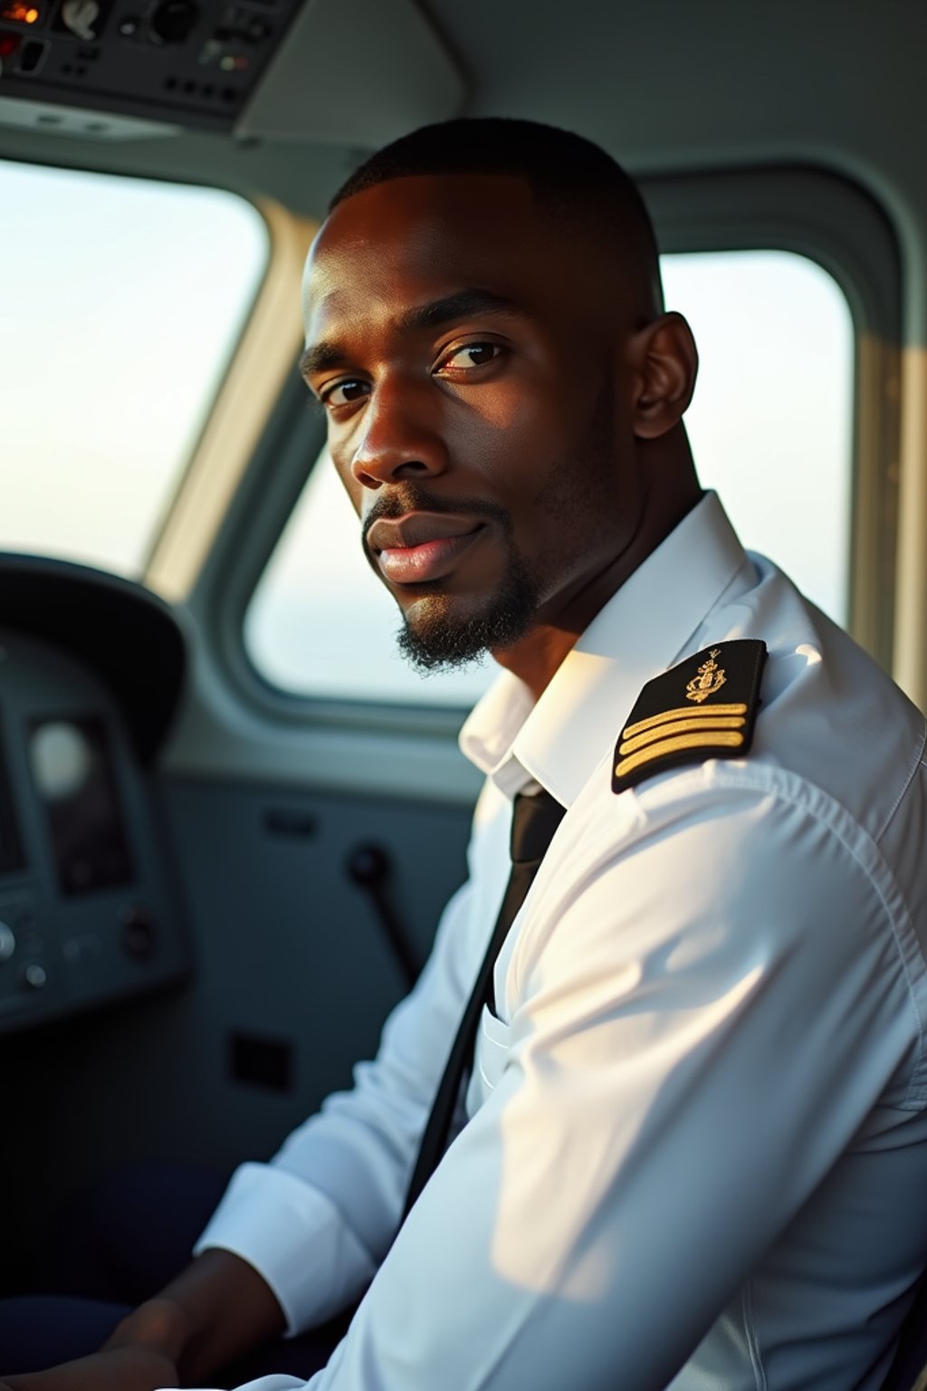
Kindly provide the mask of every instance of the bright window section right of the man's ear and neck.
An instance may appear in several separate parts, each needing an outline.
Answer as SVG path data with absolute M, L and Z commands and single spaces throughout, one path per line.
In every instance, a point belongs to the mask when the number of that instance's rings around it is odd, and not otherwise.
M 792 252 L 664 256 L 663 280 L 699 346 L 685 423 L 702 483 L 748 549 L 846 623 L 855 335 L 844 291 Z

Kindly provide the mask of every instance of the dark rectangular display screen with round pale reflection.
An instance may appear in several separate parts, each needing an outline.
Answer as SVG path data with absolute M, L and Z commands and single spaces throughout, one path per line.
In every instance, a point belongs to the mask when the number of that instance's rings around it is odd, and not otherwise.
M 29 761 L 47 812 L 61 890 L 75 896 L 131 883 L 132 858 L 103 721 L 35 723 Z

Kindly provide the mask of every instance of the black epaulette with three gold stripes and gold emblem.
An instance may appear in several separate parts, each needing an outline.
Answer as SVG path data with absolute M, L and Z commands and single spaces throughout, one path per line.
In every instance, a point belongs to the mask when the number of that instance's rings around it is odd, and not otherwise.
M 766 643 L 706 647 L 648 682 L 614 750 L 612 791 L 705 758 L 742 758 L 753 740 Z

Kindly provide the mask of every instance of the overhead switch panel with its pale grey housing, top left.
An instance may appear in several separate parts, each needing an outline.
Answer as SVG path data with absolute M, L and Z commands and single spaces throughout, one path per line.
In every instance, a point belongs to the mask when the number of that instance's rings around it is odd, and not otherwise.
M 411 0 L 0 0 L 0 124 L 382 143 L 461 90 Z

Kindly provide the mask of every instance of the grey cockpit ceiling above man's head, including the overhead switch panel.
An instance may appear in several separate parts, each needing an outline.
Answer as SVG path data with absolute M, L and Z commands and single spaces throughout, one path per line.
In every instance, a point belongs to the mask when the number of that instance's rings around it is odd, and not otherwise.
M 11 36 L 0 156 L 314 216 L 361 152 L 454 113 L 566 125 L 635 172 L 827 166 L 888 204 L 912 185 L 899 131 L 927 124 L 927 7 L 908 0 L 0 0 Z M 22 72 L 28 43 L 46 47 Z

